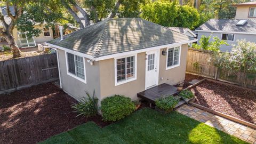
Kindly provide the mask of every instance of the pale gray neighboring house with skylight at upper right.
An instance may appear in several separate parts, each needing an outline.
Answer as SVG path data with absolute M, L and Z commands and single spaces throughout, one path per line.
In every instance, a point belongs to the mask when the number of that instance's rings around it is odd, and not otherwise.
M 206 21 L 196 28 L 197 43 L 203 35 L 211 36 L 210 41 L 213 41 L 215 36 L 226 40 L 229 45 L 222 45 L 221 51 L 231 51 L 231 45 L 237 44 L 239 39 L 256 43 L 256 2 L 234 4 L 233 6 L 237 7 L 236 19 L 210 19 Z

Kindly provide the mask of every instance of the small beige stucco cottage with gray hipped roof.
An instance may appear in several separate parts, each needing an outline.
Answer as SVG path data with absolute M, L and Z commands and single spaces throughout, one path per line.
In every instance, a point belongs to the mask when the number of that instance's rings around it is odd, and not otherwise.
M 100 100 L 185 79 L 188 43 L 197 39 L 139 18 L 107 19 L 47 44 L 56 48 L 62 89 Z

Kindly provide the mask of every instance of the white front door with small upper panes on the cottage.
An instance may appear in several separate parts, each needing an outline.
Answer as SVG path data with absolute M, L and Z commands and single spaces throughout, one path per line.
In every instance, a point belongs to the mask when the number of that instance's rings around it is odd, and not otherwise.
M 146 89 L 158 85 L 158 51 L 146 52 Z

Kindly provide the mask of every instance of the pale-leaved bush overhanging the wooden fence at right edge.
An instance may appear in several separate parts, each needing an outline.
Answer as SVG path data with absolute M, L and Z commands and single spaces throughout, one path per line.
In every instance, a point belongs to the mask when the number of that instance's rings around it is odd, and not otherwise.
M 214 59 L 215 66 L 219 68 L 242 71 L 245 74 L 243 85 L 247 86 L 248 74 L 256 73 L 256 44 L 239 40 L 230 53 L 215 53 Z

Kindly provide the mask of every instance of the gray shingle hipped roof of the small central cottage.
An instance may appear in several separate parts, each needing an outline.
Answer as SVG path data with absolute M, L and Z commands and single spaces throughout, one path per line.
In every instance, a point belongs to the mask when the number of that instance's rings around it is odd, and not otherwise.
M 48 42 L 95 58 L 194 40 L 140 18 L 107 19 Z

